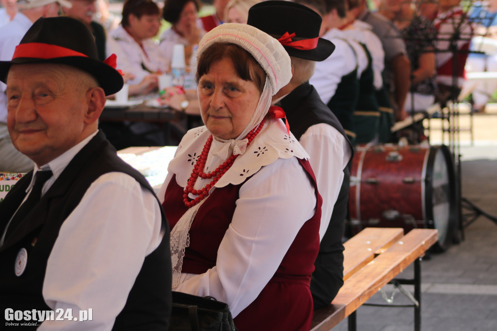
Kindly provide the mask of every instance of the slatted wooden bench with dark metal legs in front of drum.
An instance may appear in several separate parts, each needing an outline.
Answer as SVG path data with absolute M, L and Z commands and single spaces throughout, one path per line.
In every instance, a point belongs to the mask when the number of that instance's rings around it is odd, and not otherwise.
M 378 290 L 414 262 L 414 298 L 420 301 L 420 262 L 438 240 L 437 230 L 414 229 L 403 236 L 399 228 L 366 228 L 344 247 L 344 284 L 330 306 L 314 311 L 312 331 L 329 331 L 346 317 L 348 329 L 356 330 L 355 311 Z M 414 329 L 420 330 L 420 306 L 414 307 Z

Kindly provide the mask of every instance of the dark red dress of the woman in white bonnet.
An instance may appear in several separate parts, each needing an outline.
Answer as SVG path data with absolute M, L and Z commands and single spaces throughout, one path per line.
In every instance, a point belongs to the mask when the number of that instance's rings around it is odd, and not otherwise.
M 309 284 L 319 251 L 317 234 L 322 199 L 309 162 L 299 162 L 312 178 L 317 197 L 316 213 L 302 226 L 259 296 L 235 318 L 240 331 L 303 331 L 311 327 L 314 307 Z M 217 250 L 231 223 L 242 185 L 216 188 L 209 203 L 200 206 L 190 228 L 190 246 L 185 248 L 182 272 L 201 274 L 215 266 Z M 167 186 L 163 206 L 172 229 L 186 212 L 183 188 L 176 183 L 175 176 Z

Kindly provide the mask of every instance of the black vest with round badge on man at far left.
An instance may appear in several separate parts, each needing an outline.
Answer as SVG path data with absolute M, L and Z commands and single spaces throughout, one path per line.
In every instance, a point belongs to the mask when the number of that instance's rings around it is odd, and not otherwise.
M 112 171 L 129 174 L 143 188 L 154 192 L 137 170 L 117 156 L 116 150 L 99 132 L 67 165 L 26 218 L 17 225 L 10 225 L 15 228 L 0 247 L 1 311 L 5 308 L 50 310 L 42 289 L 47 260 L 59 230 L 90 184 Z M 31 177 L 32 171 L 21 178 L 0 203 L 0 233 L 26 195 Z M 113 330 L 167 330 L 171 309 L 171 260 L 169 226 L 162 208 L 161 213 L 164 238 L 159 247 L 145 257 Z M 23 274 L 17 277 L 14 263 L 21 248 L 27 250 L 28 259 Z

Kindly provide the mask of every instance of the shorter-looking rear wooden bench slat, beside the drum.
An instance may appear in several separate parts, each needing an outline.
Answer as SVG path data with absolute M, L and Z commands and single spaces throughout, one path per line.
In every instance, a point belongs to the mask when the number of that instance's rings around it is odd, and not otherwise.
M 375 253 L 391 247 L 404 235 L 402 228 L 366 228 L 343 246 L 343 280 L 373 260 Z

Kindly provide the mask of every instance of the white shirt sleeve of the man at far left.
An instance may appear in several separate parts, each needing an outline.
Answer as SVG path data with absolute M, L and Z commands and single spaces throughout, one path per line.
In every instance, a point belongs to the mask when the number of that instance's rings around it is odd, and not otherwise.
M 161 243 L 154 194 L 131 176 L 94 181 L 63 223 L 50 253 L 43 298 L 54 311 L 92 309 L 93 321 L 45 321 L 38 330 L 111 330 L 145 257 Z

